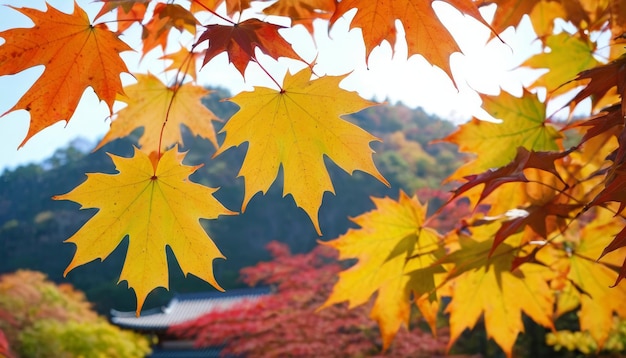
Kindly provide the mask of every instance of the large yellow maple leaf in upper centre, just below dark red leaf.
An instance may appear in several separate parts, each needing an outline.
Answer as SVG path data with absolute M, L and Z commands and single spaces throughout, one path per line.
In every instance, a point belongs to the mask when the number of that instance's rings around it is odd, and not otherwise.
M 255 87 L 230 100 L 240 110 L 226 123 L 216 155 L 248 142 L 239 175 L 245 178 L 242 211 L 258 192 L 265 193 L 283 167 L 283 194 L 309 215 L 318 234 L 318 211 L 324 192 L 334 193 L 324 164 L 327 156 L 348 173 L 364 171 L 389 185 L 372 160 L 369 143 L 378 140 L 339 116 L 374 105 L 356 92 L 339 88 L 345 76 L 311 80 L 306 67 L 287 74 L 282 90 Z

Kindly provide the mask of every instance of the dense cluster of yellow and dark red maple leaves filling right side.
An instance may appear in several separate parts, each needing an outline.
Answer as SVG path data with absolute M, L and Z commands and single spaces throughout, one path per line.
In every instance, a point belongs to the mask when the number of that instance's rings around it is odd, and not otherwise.
M 461 181 L 452 200 L 465 197 L 476 210 L 461 218 L 457 230 L 433 238 L 426 231 L 431 219 L 416 200 L 381 201 L 355 220 L 359 230 L 328 243 L 358 263 L 340 274 L 326 305 L 359 305 L 377 292 L 371 314 L 391 342 L 408 321 L 411 300 L 434 317 L 441 297 L 449 296 L 451 344 L 483 316 L 488 336 L 507 355 L 524 331 L 522 313 L 554 329 L 556 318 L 579 309 L 581 331 L 602 349 L 614 315 L 626 314 L 619 303 L 626 298 L 619 285 L 626 274 L 620 82 L 626 6 L 496 3 L 496 32 L 530 15 L 544 50 L 523 65 L 548 72 L 521 97 L 481 95 L 483 108 L 500 122 L 473 119 L 446 138 L 476 154 L 450 177 Z M 555 34 L 557 19 L 575 30 Z M 610 50 L 602 60 L 595 51 L 605 32 Z M 572 110 L 589 101 L 591 117 L 567 126 L 551 119 L 547 106 L 567 94 Z M 572 131 L 581 139 L 563 148 Z

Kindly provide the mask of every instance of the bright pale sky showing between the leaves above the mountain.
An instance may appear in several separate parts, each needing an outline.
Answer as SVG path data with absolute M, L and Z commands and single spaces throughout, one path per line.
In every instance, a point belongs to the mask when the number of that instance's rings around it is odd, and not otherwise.
M 0 5 L 21 6 L 20 0 L 0 0 Z M 43 0 L 31 0 L 29 6 L 44 8 Z M 72 2 L 51 0 L 49 3 L 65 12 L 71 12 Z M 91 0 L 78 1 L 89 14 L 95 14 L 100 5 Z M 352 73 L 342 82 L 342 87 L 357 91 L 362 97 L 391 103 L 402 102 L 410 107 L 420 106 L 428 113 L 441 118 L 462 123 L 472 116 L 484 118 L 480 110 L 480 99 L 475 90 L 497 94 L 500 87 L 516 95 L 521 94 L 522 82 L 529 83 L 536 78 L 536 71 L 516 69 L 532 52 L 539 50 L 538 42 L 529 21 L 515 32 L 505 31 L 498 39 L 489 40 L 489 30 L 476 20 L 461 15 L 450 5 L 435 2 L 435 10 L 442 15 L 444 23 L 457 39 L 463 54 L 451 56 L 452 71 L 459 86 L 453 87 L 445 73 L 432 67 L 421 56 L 407 60 L 406 44 L 402 36 L 392 56 L 391 45 L 383 43 L 374 49 L 369 66 L 364 60 L 365 47 L 360 30 L 348 31 L 349 22 L 339 20 L 327 35 L 326 23 L 316 23 L 316 38 L 312 39 L 303 27 L 283 30 L 281 34 L 294 45 L 298 54 L 307 61 L 317 56 L 315 71 L 318 74 L 343 75 Z M 487 9 L 485 16 L 491 16 L 494 8 Z M 28 27 L 31 22 L 15 10 L 0 6 L 0 31 L 12 27 Z M 3 40 L 0 40 L 3 43 Z M 315 44 L 317 47 L 315 47 Z M 515 49 L 513 51 L 512 49 Z M 131 70 L 158 74 L 163 63 L 156 61 L 161 56 L 153 51 L 139 63 L 139 55 L 124 53 Z M 291 60 L 281 59 L 278 63 L 271 59 L 261 60 L 264 66 L 276 76 L 282 75 L 288 67 L 295 71 L 301 68 Z M 29 69 L 14 76 L 0 76 L 0 114 L 7 112 L 43 72 L 43 67 Z M 534 73 L 534 74 L 533 74 Z M 125 83 L 132 78 L 123 76 Z M 246 81 L 232 65 L 225 54 L 213 59 L 202 70 L 201 84 L 221 86 L 233 93 L 250 90 L 252 86 L 274 87 L 271 80 L 254 64 L 248 67 Z M 99 103 L 93 90 L 87 89 L 81 103 L 69 123 L 59 122 L 31 138 L 17 150 L 26 135 L 29 116 L 26 111 L 10 112 L 0 117 L 0 172 L 4 168 L 41 161 L 72 139 L 83 137 L 93 142 L 99 140 L 108 130 L 110 120 L 107 106 Z

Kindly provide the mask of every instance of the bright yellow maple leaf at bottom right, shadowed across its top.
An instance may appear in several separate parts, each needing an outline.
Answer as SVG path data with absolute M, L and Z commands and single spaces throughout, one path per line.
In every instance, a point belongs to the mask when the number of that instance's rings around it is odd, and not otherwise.
M 522 313 L 545 327 L 554 328 L 551 312 L 554 295 L 548 285 L 552 271 L 526 263 L 511 271 L 515 258 L 513 247 L 502 244 L 487 258 L 489 240 L 497 225 L 474 228 L 472 237 L 459 237 L 460 249 L 442 262 L 455 263 L 450 314 L 450 344 L 465 329 L 472 329 L 484 314 L 487 336 L 512 355 L 517 336 L 524 332 Z

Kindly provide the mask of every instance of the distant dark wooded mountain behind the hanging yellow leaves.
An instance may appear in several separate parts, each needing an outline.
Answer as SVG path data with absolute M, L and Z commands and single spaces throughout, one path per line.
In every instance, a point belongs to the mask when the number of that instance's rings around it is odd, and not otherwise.
M 220 102 L 225 97 L 228 97 L 226 92 L 216 90 L 205 102 L 221 118 L 229 118 L 237 109 L 231 102 Z M 320 210 L 324 237 L 317 236 L 309 218 L 291 198 L 282 198 L 280 180 L 265 196 L 254 197 L 245 213 L 205 221 L 210 236 L 228 258 L 215 262 L 215 275 L 226 289 L 242 285 L 238 281 L 239 269 L 269 258 L 264 249 L 269 241 L 285 242 L 294 252 L 308 251 L 319 239 L 328 240 L 343 234 L 351 226 L 349 217 L 371 210 L 370 196 L 397 197 L 400 189 L 412 193 L 423 187 L 437 188 L 462 161 L 454 146 L 428 144 L 449 134 L 454 125 L 429 116 L 419 108 L 378 106 L 347 119 L 383 140 L 372 146 L 377 152 L 376 164 L 391 188 L 361 172 L 349 176 L 327 161 L 337 195 L 324 197 Z M 40 164 L 5 171 L 0 176 L 0 273 L 18 268 L 39 270 L 54 281 L 70 282 L 85 291 L 100 312 L 106 313 L 112 307 L 134 309 L 132 292 L 125 284 L 116 285 L 126 240 L 103 263 L 84 265 L 70 272 L 67 278 L 62 277 L 74 252 L 73 245 L 62 242 L 95 210 L 79 210 L 75 203 L 53 201 L 51 197 L 73 189 L 85 180 L 85 173 L 114 172 L 105 152 L 130 156 L 140 132 L 114 141 L 95 153 L 85 152 L 84 142 L 74 142 Z M 229 209 L 239 211 L 243 180 L 237 178 L 237 173 L 245 148 L 230 149 L 211 160 L 215 148 L 207 140 L 195 138 L 188 132 L 183 138 L 182 149 L 189 151 L 186 162 L 204 163 L 192 180 L 219 187 L 218 199 Z M 173 292 L 213 290 L 197 278 L 183 278 L 173 256 L 170 258 Z M 145 307 L 162 305 L 171 296 L 171 292 L 159 289 L 148 297 Z

